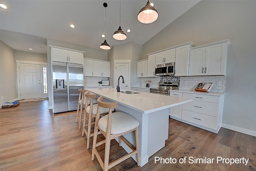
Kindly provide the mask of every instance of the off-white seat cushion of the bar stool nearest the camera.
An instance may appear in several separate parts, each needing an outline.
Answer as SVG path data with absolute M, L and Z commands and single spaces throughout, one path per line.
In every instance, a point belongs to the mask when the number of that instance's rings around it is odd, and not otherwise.
M 102 131 L 107 132 L 107 123 L 108 115 L 105 115 L 100 118 L 98 126 Z M 124 112 L 112 113 L 111 134 L 120 134 L 132 130 L 139 125 L 138 120 Z

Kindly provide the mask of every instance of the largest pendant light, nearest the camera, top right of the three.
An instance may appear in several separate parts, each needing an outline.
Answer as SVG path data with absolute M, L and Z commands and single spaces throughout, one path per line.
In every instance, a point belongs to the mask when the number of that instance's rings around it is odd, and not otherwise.
M 150 5 L 150 2 L 148 0 L 146 6 L 141 8 L 139 14 L 138 14 L 138 20 L 141 23 L 144 24 L 150 24 L 158 18 L 158 12 L 154 6 Z

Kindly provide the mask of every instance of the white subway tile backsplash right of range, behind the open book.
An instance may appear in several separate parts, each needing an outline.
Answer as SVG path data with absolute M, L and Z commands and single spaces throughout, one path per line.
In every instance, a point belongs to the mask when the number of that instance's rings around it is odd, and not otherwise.
M 225 92 L 225 76 L 191 76 L 180 77 L 180 87 L 182 90 L 194 90 L 198 83 L 213 83 L 210 92 Z

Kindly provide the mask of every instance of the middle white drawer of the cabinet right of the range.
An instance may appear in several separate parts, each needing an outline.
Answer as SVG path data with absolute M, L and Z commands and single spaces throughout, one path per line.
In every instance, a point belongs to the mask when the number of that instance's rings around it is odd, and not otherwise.
M 217 117 L 218 106 L 218 103 L 193 100 L 192 102 L 183 104 L 182 109 Z

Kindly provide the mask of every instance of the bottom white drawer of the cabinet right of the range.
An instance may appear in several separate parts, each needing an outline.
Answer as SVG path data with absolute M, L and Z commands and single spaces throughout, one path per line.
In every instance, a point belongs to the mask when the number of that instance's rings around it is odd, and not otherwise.
M 213 116 L 182 109 L 182 119 L 214 130 L 217 129 L 217 118 Z

